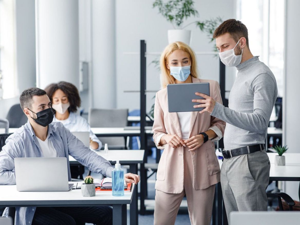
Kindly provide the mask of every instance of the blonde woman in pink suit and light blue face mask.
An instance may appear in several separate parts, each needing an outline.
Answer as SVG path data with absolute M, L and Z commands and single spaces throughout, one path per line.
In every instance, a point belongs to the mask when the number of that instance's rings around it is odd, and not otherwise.
M 182 42 L 164 49 L 160 65 L 162 89 L 155 98 L 153 139 L 164 151 L 155 183 L 154 224 L 174 224 L 186 195 L 191 224 L 208 225 L 215 184 L 220 181 L 214 141 L 223 137 L 225 122 L 206 112 L 169 113 L 166 86 L 208 82 L 210 96 L 222 104 L 220 87 L 217 81 L 198 78 L 195 53 Z

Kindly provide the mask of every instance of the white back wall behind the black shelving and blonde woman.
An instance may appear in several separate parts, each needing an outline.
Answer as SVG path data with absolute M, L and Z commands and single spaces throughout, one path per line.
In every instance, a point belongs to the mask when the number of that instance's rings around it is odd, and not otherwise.
M 116 83 L 117 83 L 117 108 L 140 108 L 139 93 L 124 93 L 124 90 L 140 90 L 140 55 L 125 54 L 125 52 L 140 52 L 140 40 L 146 40 L 147 52 L 162 52 L 167 46 L 167 30 L 173 29 L 160 14 L 157 8 L 152 8 L 153 0 L 116 0 Z M 195 1 L 199 18 L 187 21 L 205 20 L 221 16 L 223 20 L 235 18 L 235 0 L 201 0 Z M 187 24 L 186 23 L 186 24 Z M 187 29 L 192 30 L 191 47 L 195 52 L 211 52 L 213 43 L 206 34 L 195 25 Z M 147 56 L 147 90 L 159 90 L 159 72 L 151 61 L 157 56 Z M 219 81 L 219 58 L 212 55 L 198 55 L 198 65 L 201 78 Z M 231 70 L 230 70 L 231 69 Z M 235 70 L 226 69 L 227 90 L 233 84 Z M 152 97 L 155 93 L 147 94 L 147 112 L 154 103 Z

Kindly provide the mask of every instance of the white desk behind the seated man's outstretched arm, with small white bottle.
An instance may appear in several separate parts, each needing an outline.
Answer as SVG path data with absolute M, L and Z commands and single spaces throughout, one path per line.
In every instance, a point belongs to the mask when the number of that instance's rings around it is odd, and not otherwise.
M 115 164 L 116 162 L 113 160 L 120 160 L 121 165 L 129 165 L 130 173 L 137 174 L 137 164 L 143 163 L 145 150 L 109 150 L 108 154 L 104 154 L 104 150 L 95 151 L 98 155 L 101 155 L 103 158 L 110 161 L 111 164 Z M 69 161 L 72 165 L 78 165 L 77 162 L 72 156 L 69 155 Z M 80 165 L 80 164 L 79 164 Z M 130 224 L 136 225 L 138 224 L 138 193 L 137 191 L 134 193 L 134 197 L 132 199 L 132 203 L 130 206 Z

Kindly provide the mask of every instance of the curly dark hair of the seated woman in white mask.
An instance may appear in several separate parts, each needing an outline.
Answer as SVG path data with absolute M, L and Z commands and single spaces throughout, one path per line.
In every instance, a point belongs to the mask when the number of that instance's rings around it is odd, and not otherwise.
M 81 99 L 79 96 L 78 89 L 75 87 L 75 85 L 65 81 L 60 81 L 57 84 L 56 83 L 49 84 L 44 90 L 46 91 L 51 102 L 53 101 L 52 99 L 53 94 L 58 89 L 62 90 L 68 97 L 68 100 L 70 102 L 70 107 L 68 108 L 68 111 L 76 112 L 77 107 L 78 108 L 80 107 Z M 55 113 L 54 109 L 53 111 Z

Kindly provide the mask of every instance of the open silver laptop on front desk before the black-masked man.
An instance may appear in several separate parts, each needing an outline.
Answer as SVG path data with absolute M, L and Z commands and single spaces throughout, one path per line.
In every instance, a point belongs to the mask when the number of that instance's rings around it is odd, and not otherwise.
M 15 158 L 17 191 L 69 191 L 67 158 Z

